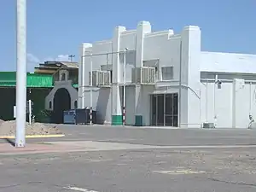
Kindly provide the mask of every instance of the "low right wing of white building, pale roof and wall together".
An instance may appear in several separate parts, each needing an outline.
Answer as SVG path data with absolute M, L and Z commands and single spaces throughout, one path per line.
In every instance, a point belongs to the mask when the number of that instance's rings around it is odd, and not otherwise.
M 248 127 L 249 114 L 256 115 L 255 62 L 256 55 L 201 52 L 201 123 Z M 222 82 L 221 89 L 216 79 Z M 244 87 L 237 87 L 234 79 L 244 79 Z

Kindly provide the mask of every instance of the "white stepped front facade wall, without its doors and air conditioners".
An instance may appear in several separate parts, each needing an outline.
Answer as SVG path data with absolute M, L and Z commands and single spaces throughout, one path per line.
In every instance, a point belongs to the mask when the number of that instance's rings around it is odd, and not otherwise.
M 147 61 L 158 61 L 158 79 L 160 86 L 168 87 L 179 93 L 179 121 L 184 127 L 200 124 L 200 59 L 201 59 L 201 30 L 198 26 L 186 26 L 180 34 L 174 35 L 172 30 L 152 32 L 148 21 L 141 21 L 136 30 L 126 30 L 125 26 L 118 26 L 113 31 L 113 38 L 95 44 L 83 44 L 79 66 L 79 108 L 90 106 L 90 54 L 92 70 L 100 70 L 102 65 L 111 66 L 113 70 L 113 85 L 111 91 L 103 91 L 107 98 L 102 100 L 99 92 L 102 88 L 93 88 L 92 107 L 104 108 L 108 106 L 108 114 L 104 118 L 103 111 L 98 111 L 105 121 L 121 119 L 122 91 L 119 86 L 123 84 L 124 62 L 121 54 L 107 54 L 125 51 L 126 54 L 126 83 L 131 82 L 131 69 L 143 67 Z M 106 53 L 105 55 L 99 55 Z M 162 67 L 173 67 L 173 78 L 162 80 Z M 179 81 L 181 79 L 181 82 Z M 137 117 L 143 118 L 143 125 L 149 125 L 150 94 L 154 94 L 159 84 L 133 85 L 126 91 L 126 120 L 128 124 L 135 122 Z M 155 89 L 154 89 L 155 88 Z M 177 89 L 178 88 L 178 89 Z M 108 89 L 108 88 L 104 88 Z M 110 92 L 110 93 L 109 93 Z M 131 94 L 131 95 L 129 95 Z M 128 96 L 129 95 L 129 96 Z M 134 96 L 134 98 L 131 98 Z M 133 102 L 134 101 L 134 102 Z M 190 106 L 189 103 L 194 103 Z M 131 106 L 134 105 L 134 106 Z M 131 114 L 132 113 L 132 114 Z M 135 117 L 131 117 L 134 115 Z

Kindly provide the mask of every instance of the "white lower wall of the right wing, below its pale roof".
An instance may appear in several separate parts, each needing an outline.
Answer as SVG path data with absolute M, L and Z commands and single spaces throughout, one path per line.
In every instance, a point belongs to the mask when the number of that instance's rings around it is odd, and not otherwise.
M 222 82 L 221 89 L 215 84 Z M 201 123 L 217 128 L 248 128 L 256 115 L 256 77 L 246 73 L 201 73 Z M 245 84 L 239 82 L 245 81 Z

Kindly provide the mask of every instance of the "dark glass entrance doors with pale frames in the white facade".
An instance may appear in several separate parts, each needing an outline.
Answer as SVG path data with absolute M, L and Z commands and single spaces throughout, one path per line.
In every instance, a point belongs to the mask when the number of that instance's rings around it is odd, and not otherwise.
M 177 93 L 151 96 L 151 125 L 177 126 Z

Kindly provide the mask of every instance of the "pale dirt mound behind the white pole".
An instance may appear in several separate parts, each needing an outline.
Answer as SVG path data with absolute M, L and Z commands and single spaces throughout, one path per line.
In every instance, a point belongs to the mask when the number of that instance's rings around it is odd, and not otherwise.
M 3 121 L 0 122 L 0 135 L 1 136 L 15 136 L 16 132 L 16 121 Z M 26 135 L 52 135 L 61 134 L 61 131 L 55 126 L 48 126 L 42 123 L 34 123 L 29 125 L 26 123 Z

